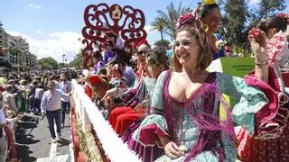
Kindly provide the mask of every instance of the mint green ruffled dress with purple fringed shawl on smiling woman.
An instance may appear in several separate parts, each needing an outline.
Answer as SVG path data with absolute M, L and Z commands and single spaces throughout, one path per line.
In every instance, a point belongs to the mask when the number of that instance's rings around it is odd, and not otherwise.
M 133 139 L 144 146 L 155 146 L 159 136 L 166 136 L 187 149 L 182 157 L 171 159 L 163 155 L 156 160 L 158 162 L 236 161 L 233 126 L 240 125 L 254 133 L 254 115 L 266 105 L 266 95 L 246 85 L 243 78 L 210 73 L 196 93 L 180 102 L 169 94 L 171 76 L 170 70 L 159 76 L 152 114 L 135 130 Z M 223 121 L 219 120 L 221 94 L 228 94 L 236 103 Z

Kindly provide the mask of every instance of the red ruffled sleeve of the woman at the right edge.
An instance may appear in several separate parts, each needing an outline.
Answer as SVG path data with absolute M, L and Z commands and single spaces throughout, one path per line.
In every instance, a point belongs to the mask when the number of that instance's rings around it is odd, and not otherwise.
M 257 139 L 275 139 L 282 135 L 289 119 L 289 96 L 284 91 L 284 83 L 278 68 L 269 67 L 269 80 L 264 82 L 257 79 L 254 72 L 246 76 L 247 85 L 261 89 L 269 103 L 256 113 Z

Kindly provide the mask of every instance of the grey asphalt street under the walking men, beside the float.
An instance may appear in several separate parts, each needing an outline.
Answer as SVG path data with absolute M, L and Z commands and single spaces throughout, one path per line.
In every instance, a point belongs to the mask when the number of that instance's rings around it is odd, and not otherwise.
M 24 113 L 16 129 L 16 148 L 23 162 L 64 162 L 71 161 L 71 132 L 69 114 L 65 127 L 61 129 L 61 141 L 51 144 L 51 134 L 46 117 Z

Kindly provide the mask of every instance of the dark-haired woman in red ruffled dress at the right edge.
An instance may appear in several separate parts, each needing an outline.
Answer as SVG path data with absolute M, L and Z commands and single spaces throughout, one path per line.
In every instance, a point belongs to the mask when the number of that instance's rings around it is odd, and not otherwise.
M 280 71 L 289 58 L 287 24 L 289 15 L 280 13 L 256 26 L 268 38 L 268 61 L 257 66 L 268 64 L 270 77 L 267 83 L 247 77 L 247 84 L 265 92 L 269 103 L 256 115 L 254 136 L 247 135 L 246 130 L 238 130 L 238 156 L 243 162 L 289 161 L 289 91 L 283 83 L 288 80 L 283 81 Z

